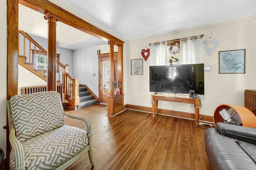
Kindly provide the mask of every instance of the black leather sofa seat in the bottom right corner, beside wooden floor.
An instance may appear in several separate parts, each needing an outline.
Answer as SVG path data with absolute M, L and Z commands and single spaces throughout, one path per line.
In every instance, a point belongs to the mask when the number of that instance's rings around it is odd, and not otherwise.
M 214 128 L 204 133 L 206 154 L 212 170 L 256 170 L 255 162 L 235 139 L 218 134 Z

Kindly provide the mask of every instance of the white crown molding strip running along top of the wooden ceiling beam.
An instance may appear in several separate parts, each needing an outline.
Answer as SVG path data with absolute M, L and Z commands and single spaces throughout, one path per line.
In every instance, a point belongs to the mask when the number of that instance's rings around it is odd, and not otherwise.
M 74 10 L 73 8 L 70 8 L 69 6 L 67 6 L 66 4 L 64 4 L 63 2 L 60 2 L 59 0 L 48 0 L 50 2 L 52 2 L 53 4 L 59 6 L 60 8 L 70 12 L 71 14 L 81 18 L 82 20 L 94 25 L 95 27 L 101 29 L 102 31 L 105 31 L 106 33 L 109 33 L 110 35 L 122 40 L 122 41 L 125 41 L 124 38 L 120 37 L 119 35 L 116 35 L 116 33 L 110 31 L 109 29 L 105 28 L 104 26 L 96 23 L 95 21 L 91 20 L 90 18 L 84 16 L 83 14 L 81 14 L 80 12 Z

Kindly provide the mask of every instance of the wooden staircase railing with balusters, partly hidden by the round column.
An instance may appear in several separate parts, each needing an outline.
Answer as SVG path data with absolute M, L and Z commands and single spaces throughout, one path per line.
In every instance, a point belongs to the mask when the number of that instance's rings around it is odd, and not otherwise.
M 23 37 L 22 37 L 23 36 Z M 22 46 L 22 41 L 20 41 L 20 37 L 23 38 L 23 53 L 20 50 L 20 46 Z M 26 53 L 26 44 L 29 43 L 29 50 Z M 34 45 L 34 49 L 32 48 Z M 35 70 L 47 70 L 47 51 L 39 45 L 32 37 L 30 37 L 24 31 L 19 30 L 19 48 L 18 55 L 22 57 L 27 57 L 26 54 L 29 52 L 29 59 L 26 59 L 26 63 L 34 64 Z M 35 56 L 33 58 L 33 56 Z M 60 63 L 60 61 L 56 61 L 56 71 L 58 73 L 57 82 L 60 82 L 62 85 L 64 98 L 68 100 L 68 107 L 72 109 L 76 109 L 76 106 L 79 104 L 79 79 L 73 79 L 70 74 L 68 74 L 68 65 L 64 65 Z M 61 87 L 59 87 L 61 88 Z M 62 90 L 59 90 L 62 91 Z M 62 96 L 62 94 L 61 94 Z M 63 100 L 62 100 L 63 102 Z

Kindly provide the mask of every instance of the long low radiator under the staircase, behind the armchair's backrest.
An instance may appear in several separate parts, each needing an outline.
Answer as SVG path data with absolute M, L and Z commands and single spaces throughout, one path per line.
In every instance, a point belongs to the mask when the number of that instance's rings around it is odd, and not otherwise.
M 20 88 L 21 94 L 32 94 L 37 92 L 46 92 L 47 86 L 30 86 L 30 87 L 22 87 Z M 62 99 L 63 86 L 62 84 L 57 85 L 57 92 L 60 93 L 60 97 Z

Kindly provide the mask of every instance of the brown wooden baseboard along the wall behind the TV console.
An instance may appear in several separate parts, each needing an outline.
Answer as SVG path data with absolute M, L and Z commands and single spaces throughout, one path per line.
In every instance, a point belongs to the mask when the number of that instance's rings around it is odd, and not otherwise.
M 130 110 L 152 113 L 152 107 L 137 106 L 137 105 L 131 105 L 131 104 L 126 104 L 125 106 L 126 106 L 127 109 L 130 109 Z M 172 116 L 172 117 L 178 117 L 178 118 L 183 118 L 183 119 L 189 119 L 189 120 L 195 120 L 195 114 L 194 113 L 187 113 L 187 112 L 182 112 L 182 111 L 158 109 L 158 114 L 159 115 Z M 207 123 L 213 123 L 213 116 L 202 115 L 202 117 L 199 121 L 207 122 Z

